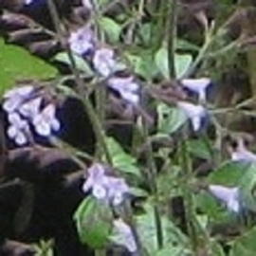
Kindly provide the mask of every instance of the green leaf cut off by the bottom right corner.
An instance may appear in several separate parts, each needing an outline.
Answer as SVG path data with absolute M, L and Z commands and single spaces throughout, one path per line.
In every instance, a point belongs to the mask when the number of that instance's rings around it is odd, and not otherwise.
M 255 237 L 256 228 L 254 227 L 234 241 L 229 256 L 255 256 Z

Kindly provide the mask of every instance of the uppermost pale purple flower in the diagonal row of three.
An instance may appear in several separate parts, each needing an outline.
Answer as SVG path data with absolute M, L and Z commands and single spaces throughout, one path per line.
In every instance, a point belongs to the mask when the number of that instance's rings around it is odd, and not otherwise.
M 68 38 L 68 43 L 71 50 L 78 54 L 83 55 L 94 49 L 95 35 L 92 29 L 88 26 L 79 28 L 72 31 Z

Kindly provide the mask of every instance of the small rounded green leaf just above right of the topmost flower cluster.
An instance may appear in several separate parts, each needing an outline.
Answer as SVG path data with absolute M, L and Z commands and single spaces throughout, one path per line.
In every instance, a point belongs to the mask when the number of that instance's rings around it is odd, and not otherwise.
M 121 32 L 121 26 L 109 17 L 101 17 L 99 19 L 100 27 L 106 33 L 110 43 L 119 42 L 119 35 Z

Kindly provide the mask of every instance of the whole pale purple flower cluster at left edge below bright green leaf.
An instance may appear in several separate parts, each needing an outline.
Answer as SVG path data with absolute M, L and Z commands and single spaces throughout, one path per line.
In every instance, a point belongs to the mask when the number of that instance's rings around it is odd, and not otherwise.
M 9 120 L 8 136 L 17 145 L 25 145 L 32 127 L 41 137 L 49 137 L 61 128 L 53 103 L 43 106 L 43 98 L 33 86 L 27 85 L 9 90 L 4 95 L 3 109 Z

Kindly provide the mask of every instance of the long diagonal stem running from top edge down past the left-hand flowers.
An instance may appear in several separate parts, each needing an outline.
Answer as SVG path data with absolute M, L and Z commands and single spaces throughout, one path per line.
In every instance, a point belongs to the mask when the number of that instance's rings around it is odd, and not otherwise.
M 47 0 L 47 4 L 48 4 L 48 9 L 50 11 L 51 17 L 52 17 L 53 24 L 54 24 L 55 29 L 57 31 L 58 39 L 62 43 L 63 46 L 66 46 L 67 44 L 65 42 L 65 39 L 64 39 L 64 36 L 63 36 L 63 34 L 64 34 L 63 29 L 61 27 L 62 22 L 61 22 L 61 19 L 59 17 L 58 11 L 55 7 L 55 4 L 54 4 L 53 0 Z M 100 147 L 102 148 L 102 151 L 104 152 L 104 154 L 106 156 L 107 162 L 109 164 L 111 164 L 112 163 L 112 158 L 111 158 L 111 155 L 108 152 L 107 145 L 105 143 L 105 139 L 104 139 L 105 134 L 104 134 L 103 128 L 101 127 L 101 121 L 97 118 L 94 107 L 92 106 L 92 103 L 91 103 L 88 95 L 84 94 L 83 81 L 82 81 L 82 78 L 80 76 L 80 72 L 77 69 L 76 62 L 74 60 L 74 56 L 73 56 L 73 54 L 72 54 L 72 52 L 71 52 L 71 50 L 68 46 L 67 46 L 67 55 L 68 55 L 68 59 L 69 59 L 70 64 L 71 64 L 72 73 L 74 74 L 75 81 L 77 83 L 78 94 L 80 95 L 80 97 L 82 99 L 85 110 L 88 114 L 88 118 L 90 119 L 90 121 L 93 125 L 94 132 L 95 132 L 95 135 L 97 137 L 97 141 L 98 141 Z

